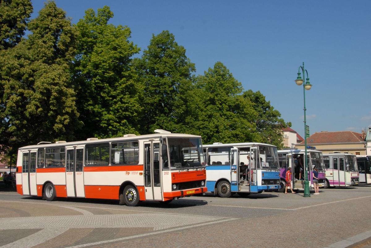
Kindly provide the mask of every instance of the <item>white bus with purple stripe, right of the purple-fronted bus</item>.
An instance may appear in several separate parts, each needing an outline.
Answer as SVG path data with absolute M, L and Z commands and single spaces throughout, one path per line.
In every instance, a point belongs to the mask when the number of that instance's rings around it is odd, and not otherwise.
M 330 187 L 348 187 L 359 183 L 356 156 L 349 153 L 326 153 L 326 181 Z

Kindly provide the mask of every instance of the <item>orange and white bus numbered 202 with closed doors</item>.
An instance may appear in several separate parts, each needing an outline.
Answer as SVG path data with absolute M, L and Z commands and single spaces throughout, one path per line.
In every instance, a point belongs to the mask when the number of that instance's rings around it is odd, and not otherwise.
M 184 151 L 192 148 L 193 156 Z M 195 149 L 196 148 L 196 149 Z M 21 195 L 170 202 L 201 194 L 206 171 L 201 136 L 170 133 L 56 143 L 18 149 L 16 185 Z

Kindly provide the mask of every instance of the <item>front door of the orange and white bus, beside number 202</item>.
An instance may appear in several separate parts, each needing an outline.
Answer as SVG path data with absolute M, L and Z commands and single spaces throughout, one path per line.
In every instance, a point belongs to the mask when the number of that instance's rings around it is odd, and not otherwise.
M 144 142 L 144 191 L 146 200 L 163 200 L 159 141 Z

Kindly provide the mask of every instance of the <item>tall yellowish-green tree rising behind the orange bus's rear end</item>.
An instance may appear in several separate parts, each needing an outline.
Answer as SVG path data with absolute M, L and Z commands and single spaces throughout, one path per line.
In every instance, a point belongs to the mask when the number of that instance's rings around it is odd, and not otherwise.
M 69 73 L 75 29 L 53 1 L 45 3 L 28 27 L 28 39 L 0 56 L 1 143 L 14 148 L 71 140 L 81 125 Z

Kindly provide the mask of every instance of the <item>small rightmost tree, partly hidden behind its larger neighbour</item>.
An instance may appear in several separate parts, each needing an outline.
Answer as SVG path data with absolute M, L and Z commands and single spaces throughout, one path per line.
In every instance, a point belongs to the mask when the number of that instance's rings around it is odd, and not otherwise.
M 256 125 L 261 142 L 282 148 L 282 129 L 291 124 L 285 123 L 280 118 L 280 112 L 270 105 L 270 101 L 266 101 L 265 96 L 260 91 L 247 90 L 243 92 L 243 97 L 253 103 L 253 108 L 258 113 L 252 121 Z

